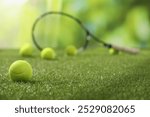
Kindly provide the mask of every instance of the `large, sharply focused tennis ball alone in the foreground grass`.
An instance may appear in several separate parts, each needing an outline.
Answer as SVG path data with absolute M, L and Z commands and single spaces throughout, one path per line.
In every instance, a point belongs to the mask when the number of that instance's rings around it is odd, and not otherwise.
M 28 81 L 32 78 L 32 67 L 27 61 L 15 61 L 9 68 L 9 77 L 13 81 Z

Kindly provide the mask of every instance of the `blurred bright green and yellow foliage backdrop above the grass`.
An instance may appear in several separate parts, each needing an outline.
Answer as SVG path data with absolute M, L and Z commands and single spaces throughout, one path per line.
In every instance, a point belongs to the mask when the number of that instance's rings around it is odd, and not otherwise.
M 106 42 L 150 48 L 149 6 L 149 0 L 1 0 L 0 48 L 19 48 L 25 43 L 32 43 L 33 22 L 47 11 L 74 15 Z M 37 31 L 41 43 L 48 40 L 45 43 L 53 47 L 65 46 L 68 42 L 81 43 L 83 35 L 79 27 L 72 23 L 73 26 L 68 29 L 68 21 L 61 20 L 41 24 Z

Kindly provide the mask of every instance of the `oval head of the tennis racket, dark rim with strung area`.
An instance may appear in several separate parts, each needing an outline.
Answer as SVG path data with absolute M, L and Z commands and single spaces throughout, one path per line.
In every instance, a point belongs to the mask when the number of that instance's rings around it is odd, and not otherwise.
M 74 45 L 78 49 L 87 43 L 86 31 L 72 16 L 47 12 L 36 19 L 32 28 L 32 39 L 39 50 L 45 47 L 64 49 Z

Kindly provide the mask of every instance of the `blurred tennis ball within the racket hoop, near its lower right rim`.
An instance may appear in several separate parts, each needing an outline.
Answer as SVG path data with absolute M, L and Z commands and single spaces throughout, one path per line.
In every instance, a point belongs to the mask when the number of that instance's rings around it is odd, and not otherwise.
M 66 48 L 66 53 L 68 56 L 74 56 L 78 52 L 77 48 L 73 45 L 70 45 Z

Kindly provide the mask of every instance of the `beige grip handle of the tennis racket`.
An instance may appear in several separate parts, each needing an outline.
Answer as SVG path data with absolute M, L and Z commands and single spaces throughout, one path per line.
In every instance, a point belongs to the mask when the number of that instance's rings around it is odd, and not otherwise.
M 137 48 L 126 48 L 126 47 L 120 47 L 116 45 L 111 45 L 111 47 L 118 51 L 126 52 L 129 54 L 138 54 L 140 52 L 140 50 Z

